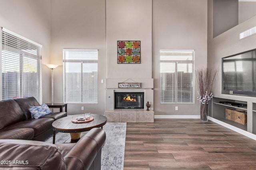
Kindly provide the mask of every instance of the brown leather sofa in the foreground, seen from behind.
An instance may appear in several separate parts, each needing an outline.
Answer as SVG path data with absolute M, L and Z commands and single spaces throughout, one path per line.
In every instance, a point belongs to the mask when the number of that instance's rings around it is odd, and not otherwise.
M 1 170 L 100 170 L 106 133 L 88 131 L 77 143 L 0 139 Z

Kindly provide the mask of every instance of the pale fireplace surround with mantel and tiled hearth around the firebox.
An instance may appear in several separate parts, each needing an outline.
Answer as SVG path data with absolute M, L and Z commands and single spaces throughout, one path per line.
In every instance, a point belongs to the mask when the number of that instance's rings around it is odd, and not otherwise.
M 139 82 L 141 88 L 118 88 L 121 82 Z M 153 78 L 107 78 L 105 88 L 105 112 L 108 122 L 154 122 L 154 81 Z M 115 92 L 144 92 L 144 109 L 114 109 Z M 146 103 L 150 108 L 147 111 Z

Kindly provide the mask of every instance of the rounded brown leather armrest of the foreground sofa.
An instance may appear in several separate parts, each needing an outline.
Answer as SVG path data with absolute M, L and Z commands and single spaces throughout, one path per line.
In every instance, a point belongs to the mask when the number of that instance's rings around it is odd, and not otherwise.
M 89 169 L 105 140 L 106 133 L 104 130 L 100 128 L 91 129 L 66 155 L 63 155 L 67 169 Z

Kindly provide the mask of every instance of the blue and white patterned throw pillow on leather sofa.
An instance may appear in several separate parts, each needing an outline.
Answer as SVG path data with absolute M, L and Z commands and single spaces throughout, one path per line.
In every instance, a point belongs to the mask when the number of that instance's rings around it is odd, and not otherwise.
M 41 106 L 30 106 L 28 110 L 31 113 L 31 117 L 35 119 L 52 113 L 52 111 L 46 104 L 42 104 Z

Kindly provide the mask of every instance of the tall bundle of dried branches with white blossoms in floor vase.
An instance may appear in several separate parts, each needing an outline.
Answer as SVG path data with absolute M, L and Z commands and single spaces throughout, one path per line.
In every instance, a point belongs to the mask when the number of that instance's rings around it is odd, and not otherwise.
M 212 71 L 208 68 L 200 68 L 196 70 L 196 80 L 198 85 L 197 100 L 200 101 L 200 120 L 208 121 L 208 103 L 213 98 L 212 86 L 216 79 L 218 68 Z

